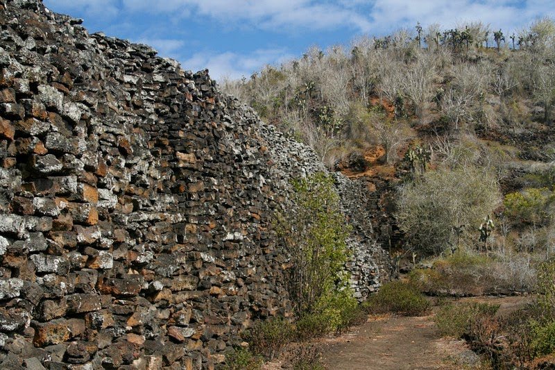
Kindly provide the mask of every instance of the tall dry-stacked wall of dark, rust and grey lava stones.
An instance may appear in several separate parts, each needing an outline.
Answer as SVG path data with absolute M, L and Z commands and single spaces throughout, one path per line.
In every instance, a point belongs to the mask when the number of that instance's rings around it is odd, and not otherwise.
M 291 314 L 271 221 L 323 165 L 207 72 L 79 24 L 0 0 L 0 368 L 218 367 Z M 336 176 L 364 298 L 386 256 Z

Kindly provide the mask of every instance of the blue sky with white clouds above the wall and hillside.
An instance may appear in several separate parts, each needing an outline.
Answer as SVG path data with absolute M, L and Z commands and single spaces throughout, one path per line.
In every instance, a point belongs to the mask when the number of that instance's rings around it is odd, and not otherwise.
M 481 21 L 505 34 L 555 17 L 554 0 L 44 0 L 91 32 L 141 42 L 212 78 L 250 76 L 311 46 L 438 23 Z

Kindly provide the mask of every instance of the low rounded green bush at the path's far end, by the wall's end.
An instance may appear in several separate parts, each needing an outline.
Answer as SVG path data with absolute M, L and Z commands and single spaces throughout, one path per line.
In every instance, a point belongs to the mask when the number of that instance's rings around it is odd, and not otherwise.
M 430 303 L 417 287 L 400 280 L 382 285 L 377 294 L 364 303 L 368 312 L 419 316 L 429 311 Z

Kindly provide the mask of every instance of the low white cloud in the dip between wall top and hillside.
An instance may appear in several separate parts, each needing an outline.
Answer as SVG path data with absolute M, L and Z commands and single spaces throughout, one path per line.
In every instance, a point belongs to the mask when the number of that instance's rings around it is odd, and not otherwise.
M 225 53 L 195 53 L 190 58 L 181 60 L 183 69 L 198 71 L 207 68 L 210 77 L 215 80 L 221 78 L 241 78 L 250 76 L 268 64 L 284 62 L 292 58 L 285 49 L 259 49 L 241 55 L 231 51 Z

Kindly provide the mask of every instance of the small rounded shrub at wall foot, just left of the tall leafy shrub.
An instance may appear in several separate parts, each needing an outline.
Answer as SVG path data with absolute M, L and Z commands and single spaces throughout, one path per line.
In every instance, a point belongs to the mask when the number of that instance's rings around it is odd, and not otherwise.
M 282 318 L 275 317 L 258 321 L 248 330 L 245 339 L 249 342 L 255 355 L 262 355 L 266 360 L 273 360 L 280 355 L 286 344 L 293 339 L 293 326 Z

